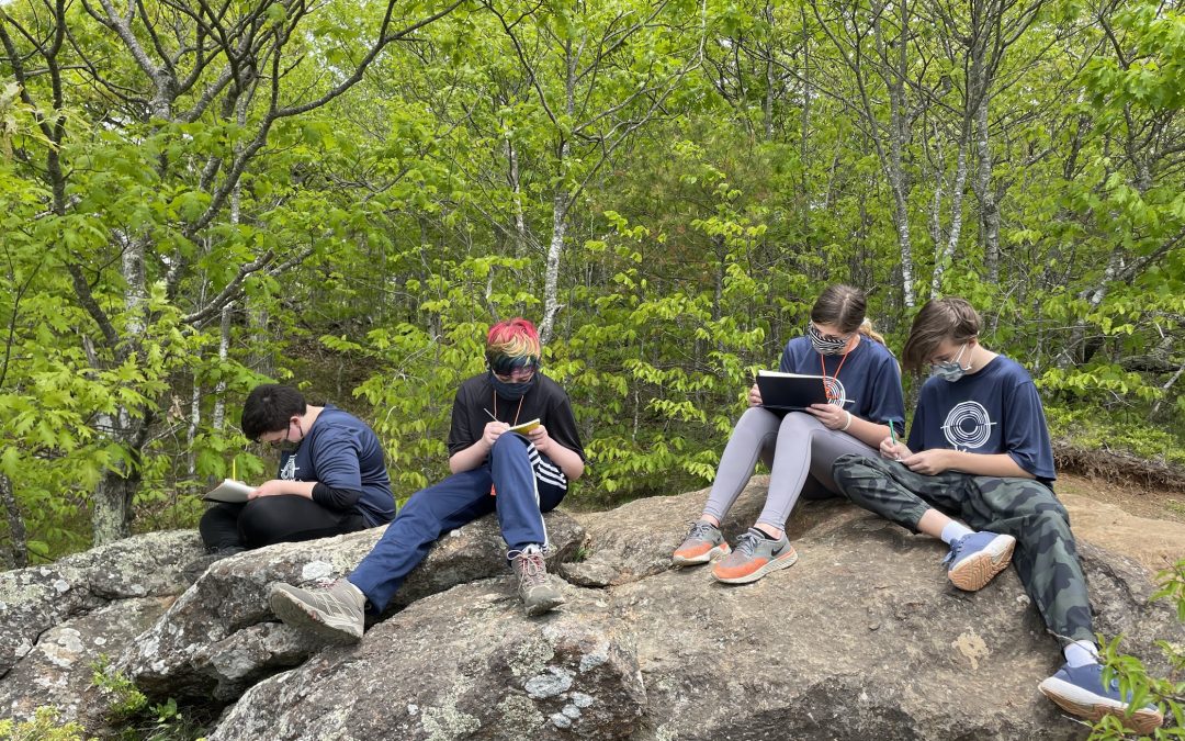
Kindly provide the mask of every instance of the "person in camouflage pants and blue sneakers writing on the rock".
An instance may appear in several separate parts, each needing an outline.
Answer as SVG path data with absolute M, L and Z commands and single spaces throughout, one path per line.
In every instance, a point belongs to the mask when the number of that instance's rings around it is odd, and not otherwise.
M 962 299 L 922 307 L 902 354 L 905 368 L 929 364 L 933 372 L 909 442 L 885 437 L 879 458 L 844 455 L 835 483 L 861 507 L 947 543 L 948 577 L 960 589 L 982 589 L 1011 558 L 1064 644 L 1065 665 L 1040 691 L 1090 720 L 1122 715 L 1129 696 L 1102 682 L 1085 577 L 1069 516 L 1051 488 L 1053 452 L 1037 388 L 1019 364 L 979 343 L 979 327 Z M 1146 707 L 1129 722 L 1151 733 L 1162 720 Z

